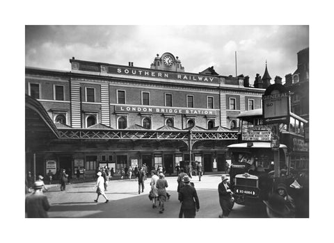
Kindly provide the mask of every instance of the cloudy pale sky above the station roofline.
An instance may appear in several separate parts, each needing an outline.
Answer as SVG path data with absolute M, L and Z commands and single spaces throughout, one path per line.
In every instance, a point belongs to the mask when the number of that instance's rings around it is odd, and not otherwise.
M 110 25 L 29 26 L 25 28 L 25 65 L 70 70 L 69 59 L 150 68 L 154 58 L 173 53 L 185 72 L 214 66 L 223 76 L 263 76 L 267 61 L 273 79 L 293 73 L 297 52 L 309 47 L 309 26 Z

